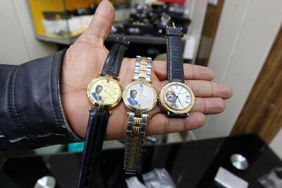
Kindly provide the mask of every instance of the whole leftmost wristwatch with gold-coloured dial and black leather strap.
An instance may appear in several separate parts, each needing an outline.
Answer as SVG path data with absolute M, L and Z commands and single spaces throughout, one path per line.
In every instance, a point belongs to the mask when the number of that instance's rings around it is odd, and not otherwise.
M 109 110 L 121 100 L 122 90 L 117 80 L 123 54 L 128 45 L 129 42 L 125 38 L 116 38 L 106 57 L 102 73 L 87 86 L 87 97 L 95 107 L 90 108 L 78 180 L 79 188 L 93 187 L 94 172 L 102 152 L 104 134 L 111 113 Z

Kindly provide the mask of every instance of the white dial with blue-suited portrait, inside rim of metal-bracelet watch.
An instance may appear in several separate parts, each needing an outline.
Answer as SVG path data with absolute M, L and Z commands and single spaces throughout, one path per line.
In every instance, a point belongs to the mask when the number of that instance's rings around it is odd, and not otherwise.
M 126 90 L 125 98 L 131 107 L 147 109 L 153 105 L 156 97 L 151 86 L 145 83 L 135 83 Z

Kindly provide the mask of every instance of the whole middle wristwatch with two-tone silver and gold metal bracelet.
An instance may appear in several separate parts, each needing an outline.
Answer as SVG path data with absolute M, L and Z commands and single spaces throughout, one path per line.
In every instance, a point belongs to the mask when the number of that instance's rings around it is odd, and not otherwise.
M 140 170 L 142 145 L 145 140 L 146 112 L 157 103 L 157 91 L 151 85 L 152 59 L 137 56 L 133 82 L 123 90 L 123 102 L 133 112 L 128 112 L 123 168 L 125 174 L 135 175 Z

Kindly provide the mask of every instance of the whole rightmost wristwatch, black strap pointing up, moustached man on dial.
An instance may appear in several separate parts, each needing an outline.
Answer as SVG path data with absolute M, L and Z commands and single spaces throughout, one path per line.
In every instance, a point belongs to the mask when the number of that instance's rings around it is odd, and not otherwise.
M 168 83 L 161 88 L 159 100 L 168 117 L 188 117 L 195 103 L 195 95 L 185 84 L 181 37 L 181 28 L 176 28 L 174 24 L 166 28 Z

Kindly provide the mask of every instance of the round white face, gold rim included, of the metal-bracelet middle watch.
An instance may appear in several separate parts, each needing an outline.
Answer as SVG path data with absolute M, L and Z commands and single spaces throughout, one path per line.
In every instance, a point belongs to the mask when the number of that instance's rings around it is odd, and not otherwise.
M 147 82 L 134 81 L 123 91 L 123 101 L 130 109 L 149 111 L 157 103 L 157 92 Z

